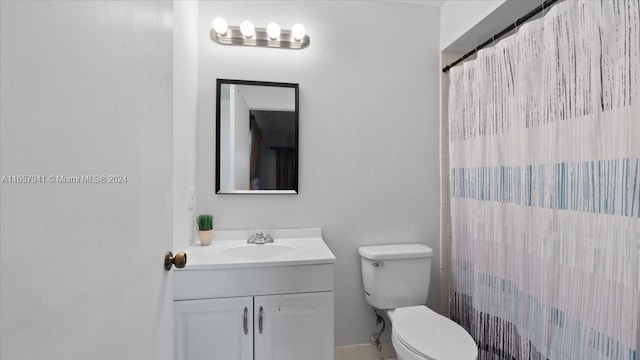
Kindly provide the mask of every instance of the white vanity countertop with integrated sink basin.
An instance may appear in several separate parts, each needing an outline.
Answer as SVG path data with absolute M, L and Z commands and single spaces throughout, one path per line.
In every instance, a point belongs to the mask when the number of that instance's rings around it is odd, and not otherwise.
M 275 229 L 268 244 L 247 244 L 249 230 L 216 230 L 209 246 L 188 247 L 187 265 L 177 271 L 332 264 L 336 257 L 322 240 L 322 230 Z

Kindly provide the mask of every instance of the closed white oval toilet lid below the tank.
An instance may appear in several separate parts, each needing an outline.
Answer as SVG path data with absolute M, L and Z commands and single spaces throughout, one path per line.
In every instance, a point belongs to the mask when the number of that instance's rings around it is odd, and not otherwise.
M 460 325 L 426 306 L 396 309 L 393 333 L 413 352 L 438 360 L 475 360 L 478 347 Z

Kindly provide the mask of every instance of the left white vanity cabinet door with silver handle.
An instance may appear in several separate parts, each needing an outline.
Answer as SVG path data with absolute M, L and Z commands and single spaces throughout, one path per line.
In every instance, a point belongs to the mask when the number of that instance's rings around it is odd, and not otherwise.
M 175 360 L 253 360 L 253 298 L 174 301 Z

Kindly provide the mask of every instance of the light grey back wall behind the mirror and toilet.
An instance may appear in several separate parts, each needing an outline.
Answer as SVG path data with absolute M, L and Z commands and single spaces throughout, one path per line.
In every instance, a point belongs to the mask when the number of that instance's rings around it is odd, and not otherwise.
M 301 51 L 221 46 L 214 17 L 305 25 Z M 401 40 L 375 31 L 386 23 Z M 362 294 L 362 245 L 421 242 L 439 253 L 438 8 L 390 2 L 201 2 L 198 212 L 219 229 L 321 226 L 337 257 L 336 346 L 376 329 Z M 374 36 L 371 36 L 374 34 Z M 298 195 L 215 195 L 216 78 L 300 84 Z M 428 305 L 439 308 L 439 261 Z M 388 335 L 388 333 L 387 333 Z

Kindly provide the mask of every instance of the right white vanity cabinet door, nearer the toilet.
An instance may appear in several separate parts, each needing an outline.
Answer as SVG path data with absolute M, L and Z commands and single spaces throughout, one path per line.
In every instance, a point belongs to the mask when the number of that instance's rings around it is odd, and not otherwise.
M 255 360 L 333 359 L 333 292 L 255 297 Z

